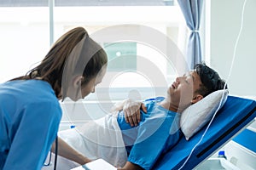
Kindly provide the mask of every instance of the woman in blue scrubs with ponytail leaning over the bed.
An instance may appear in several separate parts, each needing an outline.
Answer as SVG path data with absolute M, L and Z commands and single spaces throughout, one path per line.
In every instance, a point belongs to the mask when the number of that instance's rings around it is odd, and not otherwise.
M 0 169 L 41 169 L 61 121 L 59 100 L 94 93 L 107 62 L 105 51 L 77 27 L 25 76 L 1 84 Z

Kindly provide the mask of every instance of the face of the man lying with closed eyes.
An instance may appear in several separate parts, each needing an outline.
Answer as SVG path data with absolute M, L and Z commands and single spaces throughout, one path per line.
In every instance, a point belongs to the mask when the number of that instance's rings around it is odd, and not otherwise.
M 172 105 L 177 105 L 177 108 L 182 110 L 191 105 L 200 84 L 201 79 L 194 70 L 183 74 L 182 77 L 177 77 L 168 89 Z

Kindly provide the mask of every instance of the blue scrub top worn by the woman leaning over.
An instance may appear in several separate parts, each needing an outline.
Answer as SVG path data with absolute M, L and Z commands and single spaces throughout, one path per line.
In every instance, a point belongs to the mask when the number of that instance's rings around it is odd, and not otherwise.
M 61 114 L 48 82 L 0 84 L 0 169 L 41 169 L 56 138 Z

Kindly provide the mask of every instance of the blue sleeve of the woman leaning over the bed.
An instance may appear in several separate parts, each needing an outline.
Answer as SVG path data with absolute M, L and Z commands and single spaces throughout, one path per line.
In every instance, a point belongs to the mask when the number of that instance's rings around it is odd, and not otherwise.
M 48 101 L 26 105 L 20 112 L 3 170 L 40 170 L 58 132 L 61 107 Z

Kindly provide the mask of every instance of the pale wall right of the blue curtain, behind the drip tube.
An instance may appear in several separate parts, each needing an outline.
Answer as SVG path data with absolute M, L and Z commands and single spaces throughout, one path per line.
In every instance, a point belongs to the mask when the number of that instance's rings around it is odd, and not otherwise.
M 227 79 L 244 0 L 211 1 L 211 66 Z M 230 94 L 256 96 L 256 1 L 247 0 L 243 30 L 229 79 Z

